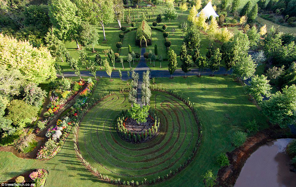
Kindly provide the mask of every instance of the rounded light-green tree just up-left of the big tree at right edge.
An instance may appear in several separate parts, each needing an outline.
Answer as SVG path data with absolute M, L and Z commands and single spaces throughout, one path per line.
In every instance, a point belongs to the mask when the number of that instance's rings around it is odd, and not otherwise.
M 245 86 L 246 93 L 253 96 L 257 101 L 262 101 L 263 96 L 270 97 L 271 86 L 264 75 L 254 76 L 249 85 Z

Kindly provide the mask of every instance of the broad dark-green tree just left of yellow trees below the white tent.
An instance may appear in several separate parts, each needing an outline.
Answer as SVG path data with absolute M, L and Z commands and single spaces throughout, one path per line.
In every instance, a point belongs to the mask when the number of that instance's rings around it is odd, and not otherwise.
M 193 50 L 199 47 L 200 36 L 198 30 L 194 26 L 187 30 L 183 42 L 186 44 L 188 50 Z

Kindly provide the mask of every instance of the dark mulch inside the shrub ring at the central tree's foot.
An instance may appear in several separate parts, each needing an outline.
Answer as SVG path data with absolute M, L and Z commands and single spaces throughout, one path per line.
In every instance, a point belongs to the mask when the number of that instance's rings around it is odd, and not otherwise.
M 145 131 L 148 129 L 151 129 L 151 127 L 154 125 L 154 120 L 152 120 L 152 117 L 149 115 L 146 117 L 146 122 L 140 122 L 140 125 L 138 122 L 132 118 L 127 118 L 125 123 L 125 127 L 128 131 L 136 132 L 136 133 L 145 133 Z

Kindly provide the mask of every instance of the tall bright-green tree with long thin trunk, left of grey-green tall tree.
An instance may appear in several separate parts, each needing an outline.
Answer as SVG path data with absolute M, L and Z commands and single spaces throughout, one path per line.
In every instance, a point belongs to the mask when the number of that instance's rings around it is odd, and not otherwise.
M 106 41 L 104 25 L 110 23 L 114 19 L 113 2 L 107 0 L 95 0 L 93 3 L 94 16 L 90 18 L 91 24 L 102 26 L 104 41 Z

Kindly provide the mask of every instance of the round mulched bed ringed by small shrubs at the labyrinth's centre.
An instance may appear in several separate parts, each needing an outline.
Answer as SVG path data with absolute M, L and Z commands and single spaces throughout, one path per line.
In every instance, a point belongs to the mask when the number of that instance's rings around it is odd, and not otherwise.
M 159 117 L 150 111 L 145 122 L 137 122 L 126 117 L 126 112 L 117 119 L 117 131 L 120 136 L 130 143 L 143 143 L 157 136 L 160 129 Z

